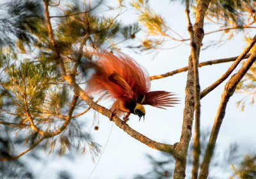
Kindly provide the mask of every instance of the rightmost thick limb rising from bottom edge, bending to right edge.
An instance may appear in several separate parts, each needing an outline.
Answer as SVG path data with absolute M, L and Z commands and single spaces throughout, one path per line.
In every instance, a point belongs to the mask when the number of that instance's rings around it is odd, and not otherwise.
M 237 72 L 237 74 L 233 75 L 225 85 L 225 89 L 221 95 L 221 102 L 215 117 L 214 125 L 212 127 L 211 136 L 209 138 L 207 149 L 205 151 L 204 160 L 201 164 L 199 179 L 206 179 L 209 174 L 209 165 L 211 162 L 216 140 L 220 131 L 221 123 L 225 116 L 228 100 L 234 94 L 237 84 L 239 83 L 239 81 L 241 81 L 246 72 L 248 72 L 250 66 L 252 66 L 253 63 L 255 62 L 255 59 L 256 51 L 253 52 L 253 54 L 250 56 L 250 58 L 248 58 L 243 67 Z

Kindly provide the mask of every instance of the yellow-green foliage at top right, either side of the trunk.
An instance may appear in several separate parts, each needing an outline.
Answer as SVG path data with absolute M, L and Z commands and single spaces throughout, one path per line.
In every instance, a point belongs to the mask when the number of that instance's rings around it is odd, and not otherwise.
M 186 1 L 170 0 L 171 3 L 180 3 L 186 6 Z M 167 4 L 166 4 L 167 5 Z M 189 0 L 191 9 L 196 13 L 197 1 Z M 182 35 L 173 30 L 160 13 L 154 12 L 150 7 L 148 0 L 136 0 L 131 3 L 132 8 L 138 13 L 138 19 L 141 23 L 141 29 L 145 31 L 145 39 L 140 41 L 139 45 L 131 46 L 132 49 L 140 51 L 159 52 L 164 48 L 164 44 L 169 41 L 176 41 L 177 43 L 185 44 L 189 38 L 184 38 Z M 212 33 L 221 33 L 219 40 L 204 43 L 203 50 L 208 47 L 220 47 L 228 40 L 234 38 L 237 33 L 243 31 L 244 35 L 251 29 L 256 22 L 255 0 L 214 0 L 211 1 L 210 6 L 205 15 L 205 26 L 216 25 L 211 31 L 205 31 L 205 35 Z M 195 15 L 194 13 L 194 15 Z M 190 15 L 191 17 L 191 15 Z M 179 45 L 173 45 L 173 49 Z

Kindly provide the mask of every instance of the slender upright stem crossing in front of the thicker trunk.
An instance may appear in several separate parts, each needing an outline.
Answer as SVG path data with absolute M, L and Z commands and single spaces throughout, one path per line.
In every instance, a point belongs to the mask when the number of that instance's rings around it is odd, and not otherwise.
M 194 70 L 194 99 L 195 99 L 195 138 L 194 138 L 194 152 L 193 152 L 193 169 L 192 169 L 192 179 L 197 179 L 198 168 L 199 168 L 199 157 L 200 157 L 200 85 L 199 85 L 199 75 L 198 75 L 198 60 L 197 56 L 194 31 L 189 17 L 189 0 L 186 0 L 186 15 L 188 19 L 188 31 L 190 35 L 190 46 L 191 46 L 191 56 L 193 60 L 193 70 Z

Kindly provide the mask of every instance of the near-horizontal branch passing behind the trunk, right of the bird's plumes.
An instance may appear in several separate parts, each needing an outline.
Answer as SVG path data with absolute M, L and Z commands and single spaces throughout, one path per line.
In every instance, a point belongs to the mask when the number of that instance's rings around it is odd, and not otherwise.
M 247 54 L 246 56 L 243 57 L 243 59 L 249 58 L 249 56 L 250 56 L 250 54 Z M 237 58 L 238 58 L 238 56 L 235 56 L 235 57 L 232 57 L 232 58 L 223 58 L 223 59 L 214 59 L 214 60 L 211 60 L 211 61 L 205 61 L 205 62 L 202 62 L 202 63 L 198 63 L 198 67 L 214 65 L 214 64 L 219 64 L 219 63 L 227 63 L 227 62 L 230 62 L 230 61 L 235 61 Z M 177 70 L 173 70 L 172 72 L 168 72 L 166 74 L 151 76 L 150 79 L 151 80 L 162 79 L 164 77 L 170 77 L 172 75 L 179 74 L 181 72 L 186 72 L 186 71 L 188 71 L 188 66 L 183 67 L 183 68 L 179 68 Z

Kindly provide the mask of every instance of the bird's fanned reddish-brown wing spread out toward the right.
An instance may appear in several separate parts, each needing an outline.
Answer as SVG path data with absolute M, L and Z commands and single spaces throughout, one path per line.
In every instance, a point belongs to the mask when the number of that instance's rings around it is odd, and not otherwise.
M 172 96 L 173 94 L 167 91 L 150 91 L 145 94 L 145 100 L 142 104 L 152 105 L 161 109 L 173 107 L 173 104 L 178 104 L 179 100 Z

